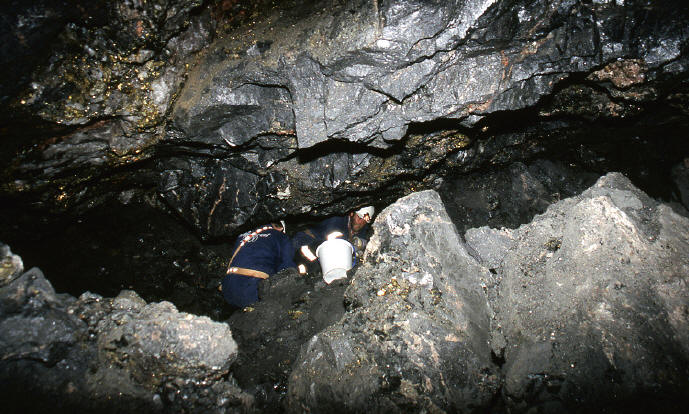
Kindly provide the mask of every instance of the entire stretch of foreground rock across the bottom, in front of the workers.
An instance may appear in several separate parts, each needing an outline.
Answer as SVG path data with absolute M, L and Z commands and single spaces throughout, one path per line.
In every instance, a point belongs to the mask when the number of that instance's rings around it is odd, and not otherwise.
M 399 199 L 373 228 L 362 263 L 334 286 L 294 271 L 271 278 L 266 301 L 228 321 L 240 349 L 228 325 L 132 291 L 56 294 L 3 245 L 0 376 L 15 387 L 3 401 L 175 412 L 686 407 L 689 219 L 621 174 L 518 228 L 469 229 L 466 242 L 435 191 Z M 36 398 L 5 399 L 27 389 Z

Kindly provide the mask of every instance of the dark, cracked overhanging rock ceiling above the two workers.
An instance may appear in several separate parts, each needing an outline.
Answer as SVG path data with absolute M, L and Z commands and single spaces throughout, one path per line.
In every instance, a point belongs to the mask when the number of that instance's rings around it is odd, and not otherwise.
M 5 220 L 143 200 L 217 239 L 538 156 L 687 154 L 681 1 L 42 0 L 0 15 Z

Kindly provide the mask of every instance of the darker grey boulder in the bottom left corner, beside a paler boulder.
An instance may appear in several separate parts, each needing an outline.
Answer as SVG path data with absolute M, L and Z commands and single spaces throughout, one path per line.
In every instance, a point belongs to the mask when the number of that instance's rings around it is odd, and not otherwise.
M 0 287 L 0 332 L 4 409 L 89 406 L 85 374 L 95 355 L 81 347 L 86 325 L 68 311 L 39 269 Z

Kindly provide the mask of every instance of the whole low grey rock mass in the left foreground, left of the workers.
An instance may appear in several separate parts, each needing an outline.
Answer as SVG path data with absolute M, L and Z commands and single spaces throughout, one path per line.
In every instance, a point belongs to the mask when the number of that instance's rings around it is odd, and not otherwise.
M 16 276 L 21 259 L 2 252 Z M 253 404 L 224 379 L 237 355 L 226 324 L 132 291 L 76 299 L 33 268 L 3 279 L 0 332 L 5 412 L 246 412 Z

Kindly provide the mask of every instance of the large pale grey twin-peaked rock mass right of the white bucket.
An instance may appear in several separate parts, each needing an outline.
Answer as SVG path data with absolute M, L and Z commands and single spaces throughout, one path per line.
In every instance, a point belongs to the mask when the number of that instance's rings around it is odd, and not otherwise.
M 466 245 L 434 192 L 374 229 L 292 412 L 683 411 L 689 220 L 622 175 Z

